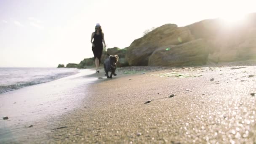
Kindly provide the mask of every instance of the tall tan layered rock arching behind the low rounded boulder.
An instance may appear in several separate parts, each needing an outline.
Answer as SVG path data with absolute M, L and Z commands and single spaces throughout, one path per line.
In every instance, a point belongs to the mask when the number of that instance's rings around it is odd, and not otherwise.
M 165 24 L 144 37 L 136 39 L 127 48 L 125 59 L 130 66 L 148 65 L 149 56 L 159 47 L 178 45 L 194 40 L 187 27 L 177 27 L 176 24 Z

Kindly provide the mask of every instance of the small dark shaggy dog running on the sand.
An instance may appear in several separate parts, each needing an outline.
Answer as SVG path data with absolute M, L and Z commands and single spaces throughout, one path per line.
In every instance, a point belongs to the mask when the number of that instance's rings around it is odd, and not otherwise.
M 105 76 L 107 76 L 107 78 L 112 78 L 112 75 L 116 76 L 117 74 L 115 74 L 115 70 L 117 69 L 117 62 L 119 60 L 119 57 L 117 55 L 112 56 L 110 55 L 108 59 L 105 59 L 104 61 L 104 70 L 106 72 Z M 109 76 L 109 72 L 110 76 Z

